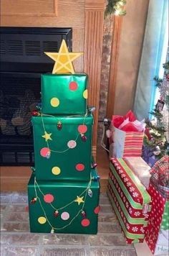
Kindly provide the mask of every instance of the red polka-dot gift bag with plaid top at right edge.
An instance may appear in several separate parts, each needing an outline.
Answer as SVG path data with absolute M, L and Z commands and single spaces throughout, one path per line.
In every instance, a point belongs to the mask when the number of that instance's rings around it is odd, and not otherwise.
M 152 211 L 145 240 L 154 255 L 169 254 L 169 157 L 165 155 L 150 170 L 148 192 L 152 197 Z

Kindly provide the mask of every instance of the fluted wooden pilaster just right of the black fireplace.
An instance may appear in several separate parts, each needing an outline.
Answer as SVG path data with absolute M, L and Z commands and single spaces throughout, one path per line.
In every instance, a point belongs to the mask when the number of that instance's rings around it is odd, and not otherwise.
M 100 70 L 105 1 L 87 0 L 84 23 L 84 72 L 89 75 L 89 105 L 95 106 L 93 152 L 97 147 L 97 122 L 100 99 Z

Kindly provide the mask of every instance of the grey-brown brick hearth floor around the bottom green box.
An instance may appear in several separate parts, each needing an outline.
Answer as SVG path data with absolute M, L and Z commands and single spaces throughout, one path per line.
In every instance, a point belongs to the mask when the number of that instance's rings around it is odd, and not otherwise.
M 1 256 L 135 256 L 106 193 L 100 195 L 97 235 L 29 232 L 26 193 L 1 193 Z

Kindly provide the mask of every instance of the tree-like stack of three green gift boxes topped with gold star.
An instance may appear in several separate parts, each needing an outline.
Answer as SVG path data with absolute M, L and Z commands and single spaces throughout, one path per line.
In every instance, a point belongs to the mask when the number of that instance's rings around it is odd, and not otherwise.
M 28 184 L 30 230 L 96 234 L 100 183 L 92 157 L 87 75 L 72 70 L 64 40 L 58 53 L 47 55 L 57 62 L 53 73 L 42 74 L 42 105 L 32 113 L 35 165 Z

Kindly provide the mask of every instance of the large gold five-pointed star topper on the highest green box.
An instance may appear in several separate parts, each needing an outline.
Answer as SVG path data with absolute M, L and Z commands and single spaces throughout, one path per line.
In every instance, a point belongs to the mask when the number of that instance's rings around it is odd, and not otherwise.
M 52 74 L 56 73 L 72 73 L 74 74 L 74 68 L 72 61 L 78 58 L 83 52 L 69 52 L 65 40 L 62 40 L 62 44 L 59 48 L 59 52 L 44 52 L 49 58 L 55 61 Z

